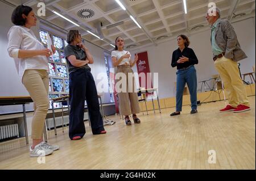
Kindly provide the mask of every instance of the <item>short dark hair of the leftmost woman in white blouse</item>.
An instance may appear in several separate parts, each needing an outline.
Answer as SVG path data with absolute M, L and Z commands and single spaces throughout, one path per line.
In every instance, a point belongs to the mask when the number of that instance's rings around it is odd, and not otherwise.
M 11 22 L 17 26 L 23 26 L 26 23 L 26 18 L 22 17 L 22 14 L 28 15 L 32 11 L 30 6 L 19 5 L 13 10 L 11 15 Z

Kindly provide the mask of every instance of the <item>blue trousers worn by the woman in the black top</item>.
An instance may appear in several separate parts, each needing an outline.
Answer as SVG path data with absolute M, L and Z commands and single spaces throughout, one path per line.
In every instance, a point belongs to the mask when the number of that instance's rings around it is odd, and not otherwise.
M 182 98 L 185 83 L 188 85 L 188 90 L 190 93 L 191 109 L 197 109 L 197 79 L 196 79 L 196 69 L 191 66 L 185 70 L 177 70 L 177 85 L 176 85 L 176 112 L 182 110 Z

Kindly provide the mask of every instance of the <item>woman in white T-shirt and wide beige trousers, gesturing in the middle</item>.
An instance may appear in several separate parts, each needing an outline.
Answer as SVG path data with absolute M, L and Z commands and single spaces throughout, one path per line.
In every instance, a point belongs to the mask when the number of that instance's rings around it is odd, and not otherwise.
M 115 49 L 112 51 L 112 63 L 117 67 L 115 72 L 115 81 L 118 92 L 119 106 L 122 115 L 125 115 L 126 125 L 131 125 L 129 115 L 133 114 L 134 123 L 141 123 L 136 113 L 141 112 L 139 108 L 138 93 L 134 92 L 135 80 L 133 76 L 133 67 L 138 61 L 138 54 L 135 54 L 134 61 L 131 61 L 131 54 L 123 50 L 124 41 L 122 37 L 115 39 Z M 123 79 L 124 78 L 124 79 Z M 132 81 L 129 81 L 132 80 Z

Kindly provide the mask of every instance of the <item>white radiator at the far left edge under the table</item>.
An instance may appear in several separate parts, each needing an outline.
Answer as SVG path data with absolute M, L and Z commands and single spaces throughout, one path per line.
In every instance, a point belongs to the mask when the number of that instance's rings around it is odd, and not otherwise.
M 9 124 L 0 127 L 0 140 L 19 137 L 18 124 Z

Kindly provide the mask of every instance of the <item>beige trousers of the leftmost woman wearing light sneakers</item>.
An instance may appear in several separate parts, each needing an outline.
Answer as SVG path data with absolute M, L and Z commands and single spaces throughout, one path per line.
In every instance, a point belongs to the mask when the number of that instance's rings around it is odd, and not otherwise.
M 49 107 L 49 78 L 46 70 L 25 70 L 22 83 L 34 102 L 31 138 L 43 137 L 44 122 Z

